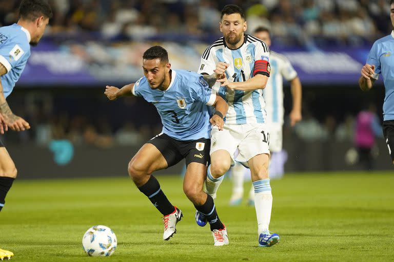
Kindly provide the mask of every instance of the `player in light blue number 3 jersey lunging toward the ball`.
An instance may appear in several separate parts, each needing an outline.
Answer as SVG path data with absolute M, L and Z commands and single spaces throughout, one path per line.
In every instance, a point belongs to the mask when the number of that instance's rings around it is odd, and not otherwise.
M 122 89 L 107 86 L 110 100 L 125 95 L 143 97 L 157 108 L 162 119 L 163 132 L 152 138 L 131 159 L 128 171 L 135 185 L 163 214 L 163 239 L 176 232 L 175 225 L 182 219 L 182 211 L 167 199 L 152 172 L 165 169 L 186 160 L 183 190 L 194 207 L 207 214 L 214 245 L 228 244 L 227 230 L 220 221 L 213 199 L 203 191 L 209 163 L 211 124 L 223 128 L 223 116 L 228 106 L 209 88 L 204 78 L 185 70 L 171 70 L 167 51 L 151 47 L 143 55 L 145 77 Z M 210 118 L 208 106 L 216 112 Z M 210 124 L 211 123 L 211 124 Z

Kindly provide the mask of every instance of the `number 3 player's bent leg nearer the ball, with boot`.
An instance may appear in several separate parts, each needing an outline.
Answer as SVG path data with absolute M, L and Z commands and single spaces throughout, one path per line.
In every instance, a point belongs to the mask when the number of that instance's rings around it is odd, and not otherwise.
M 162 135 L 144 144 L 128 166 L 129 175 L 135 185 L 164 216 L 164 240 L 168 240 L 176 232 L 175 225 L 182 219 L 183 214 L 169 202 L 159 181 L 151 173 L 174 165 L 181 159 L 172 149 L 171 138 Z

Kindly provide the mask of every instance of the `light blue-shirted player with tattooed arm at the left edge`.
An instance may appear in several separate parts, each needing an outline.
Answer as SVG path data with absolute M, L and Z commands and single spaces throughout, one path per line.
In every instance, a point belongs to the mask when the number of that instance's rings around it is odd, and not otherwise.
M 21 76 L 30 56 L 30 45 L 36 46 L 52 17 L 50 6 L 44 0 L 23 0 L 19 6 L 16 24 L 0 28 L 0 133 L 11 128 L 14 131 L 30 129 L 23 118 L 14 115 L 6 101 L 16 81 Z M 7 149 L 0 141 L 0 211 L 16 178 L 16 167 Z M 0 249 L 0 259 L 10 258 L 13 253 Z

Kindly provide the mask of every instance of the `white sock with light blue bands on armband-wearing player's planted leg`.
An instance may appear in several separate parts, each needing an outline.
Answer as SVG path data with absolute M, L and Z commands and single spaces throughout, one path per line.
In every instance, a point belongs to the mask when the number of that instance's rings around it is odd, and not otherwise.
M 254 187 L 254 207 L 256 209 L 258 234 L 269 232 L 269 222 L 271 220 L 272 193 L 269 179 L 262 179 L 253 182 Z

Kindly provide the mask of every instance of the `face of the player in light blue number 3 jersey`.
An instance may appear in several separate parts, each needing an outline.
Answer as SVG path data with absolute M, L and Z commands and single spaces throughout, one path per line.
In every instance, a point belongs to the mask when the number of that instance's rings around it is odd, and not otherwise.
M 142 61 L 142 68 L 144 69 L 144 75 L 148 79 L 150 88 L 157 89 L 166 80 L 166 73 L 170 70 L 170 64 L 162 62 L 159 58 L 151 60 L 144 59 Z

